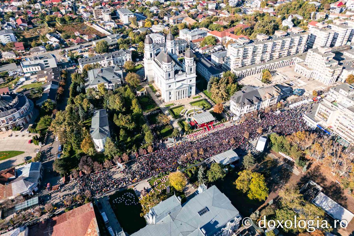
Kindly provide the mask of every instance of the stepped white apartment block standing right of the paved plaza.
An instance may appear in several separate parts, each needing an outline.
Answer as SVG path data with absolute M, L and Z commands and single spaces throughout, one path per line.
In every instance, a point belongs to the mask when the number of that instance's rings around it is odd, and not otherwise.
M 337 81 L 342 67 L 334 60 L 331 48 L 319 47 L 309 49 L 306 59 L 295 64 L 295 72 L 306 78 L 316 79 L 322 84 L 331 85 Z

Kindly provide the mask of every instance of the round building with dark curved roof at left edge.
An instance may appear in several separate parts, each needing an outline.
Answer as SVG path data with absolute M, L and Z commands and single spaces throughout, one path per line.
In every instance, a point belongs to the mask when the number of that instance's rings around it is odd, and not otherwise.
M 0 129 L 7 131 L 27 124 L 33 116 L 33 103 L 20 93 L 0 95 Z

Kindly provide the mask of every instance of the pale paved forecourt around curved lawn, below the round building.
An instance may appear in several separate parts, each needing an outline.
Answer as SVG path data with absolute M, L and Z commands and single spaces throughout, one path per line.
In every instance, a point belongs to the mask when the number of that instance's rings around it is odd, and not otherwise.
M 0 161 L 0 170 L 7 169 L 12 166 L 17 166 L 22 164 L 25 156 L 35 157 L 36 150 L 39 146 L 34 145 L 33 143 L 28 143 L 28 140 L 32 139 L 33 134 L 27 134 L 26 132 L 22 132 L 16 137 L 13 134 L 11 137 L 8 137 L 8 133 L 0 134 L 0 152 L 1 151 L 24 151 L 23 154 L 11 157 L 6 160 Z

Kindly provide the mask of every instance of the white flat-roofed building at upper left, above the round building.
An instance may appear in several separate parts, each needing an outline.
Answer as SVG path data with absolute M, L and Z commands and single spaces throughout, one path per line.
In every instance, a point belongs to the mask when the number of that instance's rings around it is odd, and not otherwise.
M 57 67 L 57 59 L 53 54 L 50 53 L 30 57 L 27 59 L 27 61 L 21 62 L 21 68 L 24 73 L 35 74 L 40 70 L 55 67 Z

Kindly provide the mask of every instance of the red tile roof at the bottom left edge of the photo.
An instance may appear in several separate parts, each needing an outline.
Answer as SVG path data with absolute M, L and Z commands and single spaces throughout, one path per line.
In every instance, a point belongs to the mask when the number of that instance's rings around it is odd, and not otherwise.
M 98 236 L 92 203 L 72 209 L 53 218 L 52 236 Z

